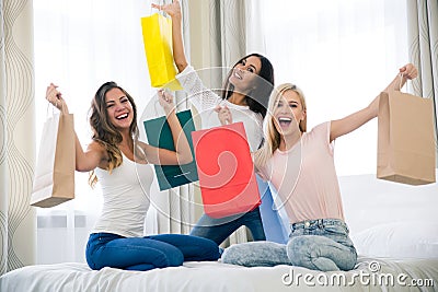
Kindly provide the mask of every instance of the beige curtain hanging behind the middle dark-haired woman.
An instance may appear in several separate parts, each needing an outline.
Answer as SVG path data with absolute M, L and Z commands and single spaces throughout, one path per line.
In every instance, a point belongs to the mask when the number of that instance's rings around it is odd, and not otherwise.
M 191 12 L 191 56 L 195 69 L 203 70 L 206 86 L 220 89 L 228 69 L 247 54 L 246 21 L 251 0 L 188 0 Z M 187 43 L 185 47 L 187 48 Z M 224 68 L 209 70 L 207 68 Z M 198 209 L 197 209 L 198 210 Z M 199 212 L 195 212 L 196 220 Z M 249 241 L 242 226 L 223 244 Z

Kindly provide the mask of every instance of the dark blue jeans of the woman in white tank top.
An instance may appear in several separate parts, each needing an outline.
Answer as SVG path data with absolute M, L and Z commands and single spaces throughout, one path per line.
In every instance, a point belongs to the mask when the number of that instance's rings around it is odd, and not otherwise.
M 124 237 L 113 233 L 93 233 L 85 249 L 93 270 L 112 267 L 125 270 L 151 270 L 181 266 L 185 260 L 217 260 L 214 242 L 182 234 Z

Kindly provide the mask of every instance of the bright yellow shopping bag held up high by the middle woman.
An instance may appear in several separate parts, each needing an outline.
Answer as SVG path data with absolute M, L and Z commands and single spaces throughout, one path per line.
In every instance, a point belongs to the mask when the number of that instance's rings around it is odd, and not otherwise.
M 154 13 L 141 17 L 141 28 L 152 87 L 182 90 L 173 63 L 172 20 Z

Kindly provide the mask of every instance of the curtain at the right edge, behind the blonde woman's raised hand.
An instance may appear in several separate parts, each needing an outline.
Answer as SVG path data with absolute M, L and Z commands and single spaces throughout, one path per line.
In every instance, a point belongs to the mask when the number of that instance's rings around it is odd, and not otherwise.
M 435 124 L 438 113 L 438 2 L 407 0 L 410 58 L 419 70 L 413 82 L 416 95 L 433 98 Z M 438 150 L 438 147 L 437 147 Z M 438 165 L 438 155 L 437 155 Z

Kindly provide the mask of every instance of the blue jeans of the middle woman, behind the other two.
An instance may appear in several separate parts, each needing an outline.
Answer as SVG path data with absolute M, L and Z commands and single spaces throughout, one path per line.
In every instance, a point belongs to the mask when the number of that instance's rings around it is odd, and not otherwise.
M 211 240 L 219 245 L 230 236 L 231 233 L 243 225 L 251 231 L 254 241 L 266 240 L 258 208 L 255 208 L 247 213 L 219 219 L 203 214 L 193 227 L 191 235 Z

